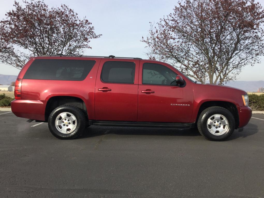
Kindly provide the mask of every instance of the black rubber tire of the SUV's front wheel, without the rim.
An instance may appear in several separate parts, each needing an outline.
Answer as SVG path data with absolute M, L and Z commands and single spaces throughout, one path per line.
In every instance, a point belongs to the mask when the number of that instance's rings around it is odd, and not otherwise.
M 210 131 L 207 128 L 208 119 L 215 114 L 221 114 L 225 116 L 226 119 L 228 120 L 228 129 L 222 135 L 214 135 L 210 133 Z M 204 136 L 206 139 L 211 140 L 211 141 L 223 141 L 227 139 L 230 135 L 232 135 L 232 133 L 234 132 L 235 119 L 232 113 L 228 111 L 227 109 L 223 107 L 213 106 L 201 112 L 199 119 L 197 121 L 197 127 L 198 127 L 200 134 Z

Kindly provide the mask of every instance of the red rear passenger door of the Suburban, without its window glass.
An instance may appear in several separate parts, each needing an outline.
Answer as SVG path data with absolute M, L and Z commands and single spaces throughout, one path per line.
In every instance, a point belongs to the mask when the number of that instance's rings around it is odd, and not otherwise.
M 138 114 L 138 65 L 139 60 L 125 59 L 124 62 L 134 62 L 134 84 L 106 83 L 101 81 L 103 64 L 115 59 L 102 59 L 96 78 L 95 112 L 96 120 L 137 121 Z M 107 87 L 111 91 L 99 91 Z

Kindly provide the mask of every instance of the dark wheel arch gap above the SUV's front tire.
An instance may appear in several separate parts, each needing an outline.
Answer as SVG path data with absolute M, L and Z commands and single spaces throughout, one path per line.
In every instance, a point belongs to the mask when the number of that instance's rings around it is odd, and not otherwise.
M 200 107 L 199 107 L 197 116 L 196 116 L 196 124 L 197 124 L 197 121 L 199 119 L 201 112 L 203 110 L 207 109 L 208 107 L 212 107 L 212 106 L 223 107 L 223 108 L 227 109 L 228 111 L 230 111 L 231 114 L 234 116 L 234 119 L 235 119 L 235 129 L 238 128 L 238 126 L 239 126 L 239 115 L 238 115 L 237 107 L 234 103 L 228 102 L 228 101 L 217 101 L 217 100 L 215 100 L 215 101 L 202 102 Z

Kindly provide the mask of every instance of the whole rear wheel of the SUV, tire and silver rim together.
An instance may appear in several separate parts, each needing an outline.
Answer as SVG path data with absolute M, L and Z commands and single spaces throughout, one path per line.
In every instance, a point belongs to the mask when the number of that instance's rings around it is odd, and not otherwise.
M 86 127 L 86 117 L 83 111 L 72 105 L 61 105 L 49 116 L 50 132 L 59 139 L 74 139 Z

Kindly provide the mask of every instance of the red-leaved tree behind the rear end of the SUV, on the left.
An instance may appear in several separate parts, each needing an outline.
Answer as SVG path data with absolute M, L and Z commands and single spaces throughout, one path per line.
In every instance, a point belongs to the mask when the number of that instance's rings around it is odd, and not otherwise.
M 49 8 L 44 1 L 15 1 L 0 22 L 0 62 L 21 69 L 32 56 L 80 55 L 96 35 L 86 17 L 66 5 Z

